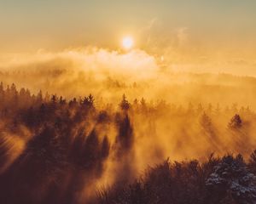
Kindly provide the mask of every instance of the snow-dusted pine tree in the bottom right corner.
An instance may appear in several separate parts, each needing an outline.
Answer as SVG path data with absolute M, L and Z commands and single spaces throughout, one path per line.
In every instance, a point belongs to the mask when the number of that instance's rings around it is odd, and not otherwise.
M 256 202 L 256 177 L 247 170 L 241 155 L 224 156 L 207 178 L 206 185 L 218 202 L 230 195 L 241 204 Z

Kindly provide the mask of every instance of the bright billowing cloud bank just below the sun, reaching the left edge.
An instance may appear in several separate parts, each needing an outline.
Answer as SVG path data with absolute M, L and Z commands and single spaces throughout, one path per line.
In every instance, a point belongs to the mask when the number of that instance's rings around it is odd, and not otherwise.
M 119 53 L 95 47 L 12 54 L 2 57 L 1 65 L 4 84 L 15 82 L 33 92 L 42 89 L 67 97 L 89 93 L 109 96 L 109 87 L 114 84 L 145 82 L 155 78 L 159 70 L 154 56 L 143 50 Z

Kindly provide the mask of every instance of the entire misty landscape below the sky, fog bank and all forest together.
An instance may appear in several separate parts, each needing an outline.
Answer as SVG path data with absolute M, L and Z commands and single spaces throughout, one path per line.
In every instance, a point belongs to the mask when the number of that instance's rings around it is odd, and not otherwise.
M 255 201 L 254 77 L 86 50 L 17 58 L 0 78 L 4 203 Z

